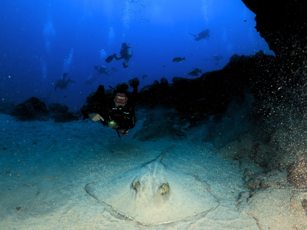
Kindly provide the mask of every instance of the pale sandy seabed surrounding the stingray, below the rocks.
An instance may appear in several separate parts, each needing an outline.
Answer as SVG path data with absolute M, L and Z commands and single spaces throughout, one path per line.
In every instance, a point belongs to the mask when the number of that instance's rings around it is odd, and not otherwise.
M 290 186 L 285 172 L 271 171 L 263 178 L 270 186 L 248 190 L 243 172 L 263 174 L 257 164 L 249 159 L 224 159 L 212 143 L 200 138 L 201 127 L 177 140 L 169 136 L 139 141 L 133 136 L 142 128 L 145 118 L 141 113 L 146 112 L 139 112 L 137 126 L 121 139 L 114 130 L 93 121 L 23 122 L 0 114 L 0 228 L 307 229 L 306 212 L 301 206 L 307 190 Z M 110 181 L 113 176 L 114 186 L 123 185 L 125 189 L 122 173 L 150 162 L 164 151 L 163 165 L 179 181 L 185 175 L 202 182 L 202 190 L 214 197 L 212 208 L 203 213 L 200 209 L 191 218 L 146 225 L 139 219 L 126 218 L 88 194 L 88 184 L 97 179 L 103 183 L 103 178 Z M 197 204 L 202 198 L 187 199 Z M 179 204 L 179 211 L 185 208 Z M 161 211 L 176 217 L 173 209 Z

